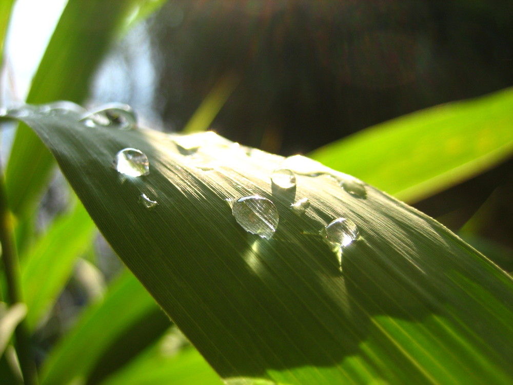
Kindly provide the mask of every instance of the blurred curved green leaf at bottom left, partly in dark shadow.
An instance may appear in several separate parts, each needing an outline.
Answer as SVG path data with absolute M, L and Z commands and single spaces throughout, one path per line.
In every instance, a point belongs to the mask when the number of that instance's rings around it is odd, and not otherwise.
M 111 284 L 103 301 L 88 307 L 51 351 L 41 370 L 41 384 L 85 381 L 111 344 L 155 309 L 155 301 L 126 272 Z

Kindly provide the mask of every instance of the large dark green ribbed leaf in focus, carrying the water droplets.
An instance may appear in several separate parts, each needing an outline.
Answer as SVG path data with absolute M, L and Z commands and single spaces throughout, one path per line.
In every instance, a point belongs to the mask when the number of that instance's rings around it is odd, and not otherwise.
M 22 119 L 51 149 L 115 252 L 223 378 L 513 381 L 513 280 L 380 190 L 307 158 L 285 160 L 211 132 L 87 127 L 73 113 Z M 127 147 L 148 156 L 148 175 L 111 167 Z M 271 185 L 277 167 L 292 169 L 297 187 Z M 147 208 L 142 194 L 158 205 Z M 272 200 L 280 215 L 269 239 L 239 224 L 270 236 L 269 203 L 242 210 L 238 223 L 226 201 L 254 194 Z M 310 200 L 305 213 L 291 210 L 303 198 Z M 320 235 L 340 217 L 360 234 L 353 229 L 352 242 L 348 232 L 335 237 L 346 247 Z

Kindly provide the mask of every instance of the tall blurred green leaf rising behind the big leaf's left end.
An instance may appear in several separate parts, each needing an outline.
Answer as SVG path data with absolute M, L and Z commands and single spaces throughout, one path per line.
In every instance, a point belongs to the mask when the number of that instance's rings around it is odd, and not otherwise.
M 128 16 L 148 0 L 69 0 L 37 69 L 28 103 L 54 100 L 82 102 L 89 80 L 114 36 L 126 28 Z M 162 2 L 157 2 L 162 4 Z M 147 16 L 148 12 L 141 13 Z M 131 17 L 131 24 L 137 18 Z M 33 208 L 48 182 L 53 158 L 34 132 L 20 125 L 6 169 L 7 197 L 12 212 Z

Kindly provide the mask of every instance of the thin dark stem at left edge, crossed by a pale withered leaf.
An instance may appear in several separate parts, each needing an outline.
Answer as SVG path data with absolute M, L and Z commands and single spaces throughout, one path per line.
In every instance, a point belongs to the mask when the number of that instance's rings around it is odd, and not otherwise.
M 4 175 L 0 165 L 0 242 L 2 243 L 2 260 L 4 262 L 5 276 L 7 280 L 7 299 L 12 305 L 23 302 L 19 290 L 19 266 L 16 255 L 16 247 L 13 242 L 12 220 L 7 206 L 5 194 Z M 14 335 L 16 337 L 16 353 L 26 385 L 37 384 L 37 372 L 30 346 L 30 337 L 22 321 L 18 324 Z

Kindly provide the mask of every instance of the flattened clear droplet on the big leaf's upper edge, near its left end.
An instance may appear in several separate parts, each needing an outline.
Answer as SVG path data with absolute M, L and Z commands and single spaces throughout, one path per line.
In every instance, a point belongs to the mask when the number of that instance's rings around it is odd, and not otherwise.
M 128 104 L 110 103 L 89 112 L 81 121 L 88 127 L 103 126 L 131 130 L 137 119 Z

